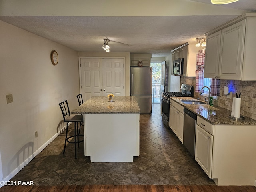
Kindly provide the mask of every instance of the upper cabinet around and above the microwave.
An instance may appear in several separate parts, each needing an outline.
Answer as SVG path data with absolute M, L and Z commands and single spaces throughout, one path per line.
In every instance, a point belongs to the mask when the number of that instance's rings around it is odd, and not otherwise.
M 183 76 L 196 76 L 196 54 L 202 47 L 196 47 L 196 42 L 188 42 L 172 50 L 172 62 L 178 58 L 183 58 Z

